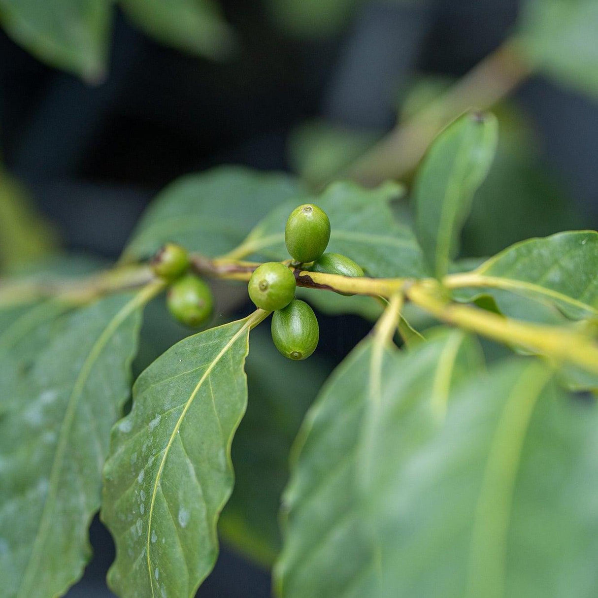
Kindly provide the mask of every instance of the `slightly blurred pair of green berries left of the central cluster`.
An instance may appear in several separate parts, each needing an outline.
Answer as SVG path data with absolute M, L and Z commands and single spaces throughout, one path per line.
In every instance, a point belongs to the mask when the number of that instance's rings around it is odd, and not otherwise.
M 187 251 L 175 243 L 166 243 L 151 261 L 154 274 L 170 283 L 166 305 L 173 318 L 197 328 L 212 315 L 214 301 L 209 286 L 190 274 L 189 266 Z

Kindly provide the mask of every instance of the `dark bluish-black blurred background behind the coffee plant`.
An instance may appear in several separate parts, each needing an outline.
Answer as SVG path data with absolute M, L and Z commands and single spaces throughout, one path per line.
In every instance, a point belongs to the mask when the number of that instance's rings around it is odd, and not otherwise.
M 144 207 L 167 182 L 221 163 L 288 169 L 289 131 L 306 118 L 389 129 L 389 88 L 414 72 L 459 77 L 496 48 L 517 17 L 515 0 L 367 4 L 342 35 L 291 41 L 258 2 L 226 0 L 243 42 L 216 64 L 169 50 L 119 14 L 108 80 L 89 87 L 36 62 L 0 33 L 0 146 L 11 173 L 70 249 L 115 258 Z M 576 202 L 584 226 L 598 220 L 598 108 L 541 78 L 516 99 L 542 160 Z M 367 330 L 354 318 L 321 320 L 341 333 L 335 360 Z M 328 331 L 328 332 L 327 332 Z M 97 521 L 96 557 L 69 596 L 106 595 L 112 542 Z M 270 579 L 226 550 L 200 596 L 269 596 Z

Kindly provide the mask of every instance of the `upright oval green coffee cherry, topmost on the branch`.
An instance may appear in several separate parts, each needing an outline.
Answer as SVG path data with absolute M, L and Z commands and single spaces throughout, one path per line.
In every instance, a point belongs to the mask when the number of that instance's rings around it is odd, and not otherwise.
M 285 227 L 286 249 L 294 260 L 304 263 L 317 260 L 330 239 L 330 221 L 324 210 L 305 203 L 295 208 Z

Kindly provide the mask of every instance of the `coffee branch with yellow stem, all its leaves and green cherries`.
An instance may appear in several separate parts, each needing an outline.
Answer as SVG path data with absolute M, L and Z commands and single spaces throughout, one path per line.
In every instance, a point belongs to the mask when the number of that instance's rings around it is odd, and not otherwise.
M 268 350 L 254 329 L 273 312 L 277 349 L 307 358 L 319 331 L 306 299 L 379 318 L 294 441 L 280 550 L 243 532 L 245 495 L 225 517 L 233 544 L 273 565 L 277 596 L 596 596 L 598 233 L 455 260 L 497 139 L 479 112 L 438 135 L 413 225 L 394 182 L 313 194 L 220 167 L 166 188 L 114 267 L 3 280 L 0 595 L 65 593 L 100 509 L 117 596 L 193 596 L 233 490 L 246 357 Z M 257 309 L 166 350 L 122 417 L 145 306 L 166 291 L 175 318 L 202 325 L 209 280 L 249 285 Z M 417 331 L 409 313 L 437 325 Z M 484 338 L 511 355 L 487 363 Z M 289 410 L 302 375 L 273 390 Z

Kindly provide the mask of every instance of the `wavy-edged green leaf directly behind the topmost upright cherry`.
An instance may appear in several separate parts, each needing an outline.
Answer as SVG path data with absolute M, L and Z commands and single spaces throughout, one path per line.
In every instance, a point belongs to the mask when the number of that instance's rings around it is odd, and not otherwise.
M 331 224 L 327 251 L 347 255 L 370 276 L 425 276 L 422 251 L 411 230 L 395 222 L 390 202 L 402 187 L 385 183 L 364 189 L 335 182 L 318 197 L 302 197 L 273 210 L 242 245 L 243 255 L 286 260 L 285 224 L 292 209 L 310 201 L 325 210 Z M 240 249 L 240 248 L 239 248 Z

